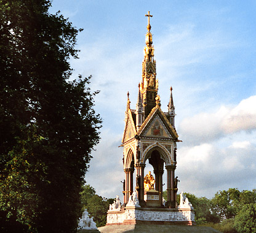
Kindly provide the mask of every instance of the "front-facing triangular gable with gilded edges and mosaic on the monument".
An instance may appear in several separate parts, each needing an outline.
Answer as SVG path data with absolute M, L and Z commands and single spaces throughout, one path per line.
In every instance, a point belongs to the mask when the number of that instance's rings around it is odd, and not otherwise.
M 151 113 L 145 119 L 140 129 L 138 129 L 138 135 L 142 137 L 178 139 L 177 132 L 172 127 L 159 105 L 156 105 L 156 107 L 151 110 Z

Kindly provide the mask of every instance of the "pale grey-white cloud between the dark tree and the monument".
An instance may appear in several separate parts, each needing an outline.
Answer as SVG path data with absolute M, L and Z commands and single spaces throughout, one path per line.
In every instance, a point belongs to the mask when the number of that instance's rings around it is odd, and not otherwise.
M 122 195 L 121 180 L 124 177 L 122 167 L 122 148 L 119 139 L 121 135 L 111 134 L 106 129 L 102 131 L 102 139 L 92 153 L 90 167 L 86 173 L 86 182 L 96 189 L 96 193 L 103 197 Z

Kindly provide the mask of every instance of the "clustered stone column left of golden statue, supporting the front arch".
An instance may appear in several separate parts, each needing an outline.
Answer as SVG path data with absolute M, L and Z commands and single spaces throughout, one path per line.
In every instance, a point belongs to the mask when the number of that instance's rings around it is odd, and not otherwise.
M 138 195 L 138 201 L 140 202 L 140 206 L 145 206 L 144 201 L 144 168 L 145 164 L 141 162 L 137 162 L 135 164 L 136 167 L 136 190 Z

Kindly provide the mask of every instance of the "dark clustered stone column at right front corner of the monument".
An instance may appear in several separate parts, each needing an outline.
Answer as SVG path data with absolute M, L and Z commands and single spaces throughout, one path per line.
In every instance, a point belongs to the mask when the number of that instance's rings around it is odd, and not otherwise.
M 167 170 L 167 202 L 166 206 L 169 208 L 176 208 L 176 198 L 175 198 L 175 187 L 174 187 L 174 171 L 176 169 L 175 165 L 166 166 Z

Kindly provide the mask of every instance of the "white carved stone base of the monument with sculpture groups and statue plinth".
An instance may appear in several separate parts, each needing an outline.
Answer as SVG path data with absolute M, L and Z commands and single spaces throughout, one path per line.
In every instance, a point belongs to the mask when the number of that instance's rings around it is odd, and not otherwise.
M 110 205 L 106 225 L 194 225 L 194 208 L 183 193 L 180 195 L 180 200 L 178 208 L 164 208 L 162 202 L 159 201 L 159 192 L 151 189 L 145 192 L 146 207 L 141 207 L 138 204 L 136 191 L 134 191 L 126 207 L 113 208 Z

